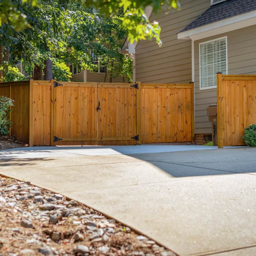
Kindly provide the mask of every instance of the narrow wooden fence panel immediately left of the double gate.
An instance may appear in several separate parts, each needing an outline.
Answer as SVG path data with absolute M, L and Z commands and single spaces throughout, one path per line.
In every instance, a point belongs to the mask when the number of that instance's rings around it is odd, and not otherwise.
M 33 81 L 33 144 L 51 145 L 51 81 Z

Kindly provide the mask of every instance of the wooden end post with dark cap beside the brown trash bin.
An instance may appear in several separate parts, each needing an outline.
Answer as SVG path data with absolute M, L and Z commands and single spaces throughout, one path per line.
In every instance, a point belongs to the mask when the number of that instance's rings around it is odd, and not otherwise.
M 222 73 L 217 73 L 217 132 L 218 148 L 223 148 L 223 115 L 222 115 Z

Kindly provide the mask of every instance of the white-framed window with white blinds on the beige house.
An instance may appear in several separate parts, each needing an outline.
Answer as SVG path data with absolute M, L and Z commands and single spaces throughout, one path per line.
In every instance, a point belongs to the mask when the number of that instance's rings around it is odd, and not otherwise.
M 216 73 L 227 74 L 227 37 L 199 44 L 200 90 L 216 88 Z

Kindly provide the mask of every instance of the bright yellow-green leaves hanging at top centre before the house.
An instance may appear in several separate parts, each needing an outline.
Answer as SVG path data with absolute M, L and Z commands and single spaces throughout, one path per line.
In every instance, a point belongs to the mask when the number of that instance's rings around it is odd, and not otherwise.
M 152 6 L 153 12 L 157 13 L 162 6 L 167 6 L 168 9 L 179 9 L 179 0 L 81 0 L 86 6 L 94 5 L 106 16 L 118 14 L 122 10 L 123 27 L 128 31 L 128 40 L 133 41 L 145 40 L 152 38 L 156 39 L 159 46 L 162 45 L 160 40 L 161 28 L 158 22 L 150 22 L 145 15 L 145 8 Z

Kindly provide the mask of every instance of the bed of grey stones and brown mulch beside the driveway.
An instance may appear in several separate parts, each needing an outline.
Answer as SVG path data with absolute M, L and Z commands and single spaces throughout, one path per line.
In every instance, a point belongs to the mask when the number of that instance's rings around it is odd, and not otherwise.
M 65 196 L 0 175 L 0 256 L 176 256 Z

